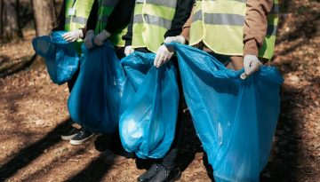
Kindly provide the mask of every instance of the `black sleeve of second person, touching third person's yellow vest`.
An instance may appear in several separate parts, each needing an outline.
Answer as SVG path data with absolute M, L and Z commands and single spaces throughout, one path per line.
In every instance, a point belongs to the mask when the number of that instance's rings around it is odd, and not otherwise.
M 110 34 L 116 33 L 117 30 L 122 30 L 130 22 L 135 1 L 119 0 L 113 12 L 108 18 L 106 30 Z

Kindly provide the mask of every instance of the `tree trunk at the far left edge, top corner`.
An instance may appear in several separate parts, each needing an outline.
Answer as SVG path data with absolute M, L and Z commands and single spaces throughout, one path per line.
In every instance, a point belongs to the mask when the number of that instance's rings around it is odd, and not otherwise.
M 19 0 L 5 0 L 2 6 L 2 40 L 9 42 L 22 38 L 19 25 Z

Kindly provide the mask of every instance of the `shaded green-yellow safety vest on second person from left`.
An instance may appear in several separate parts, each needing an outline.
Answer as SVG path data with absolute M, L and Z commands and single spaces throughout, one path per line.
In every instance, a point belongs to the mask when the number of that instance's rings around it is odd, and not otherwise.
M 98 11 L 98 22 L 95 29 L 95 33 L 99 34 L 108 24 L 108 18 L 110 14 L 114 11 L 118 0 L 99 0 L 99 11 Z M 124 47 L 124 40 L 122 37 L 126 34 L 127 29 L 122 28 L 117 30 L 109 40 L 112 44 L 118 47 Z

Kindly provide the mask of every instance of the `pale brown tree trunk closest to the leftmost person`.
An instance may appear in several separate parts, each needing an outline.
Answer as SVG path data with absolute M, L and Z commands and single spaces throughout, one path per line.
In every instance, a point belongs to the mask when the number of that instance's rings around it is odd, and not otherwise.
M 36 36 L 48 35 L 56 22 L 54 0 L 32 0 L 34 11 Z

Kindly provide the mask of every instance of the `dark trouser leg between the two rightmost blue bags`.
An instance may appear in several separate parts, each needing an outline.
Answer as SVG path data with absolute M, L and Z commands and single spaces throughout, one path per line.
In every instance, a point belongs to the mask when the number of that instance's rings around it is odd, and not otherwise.
M 141 51 L 148 53 L 148 51 L 145 48 L 139 48 L 135 51 Z M 177 69 L 177 81 L 178 81 L 178 87 L 179 87 L 179 93 L 180 93 L 180 100 L 179 100 L 179 108 L 178 108 L 178 118 L 177 118 L 177 124 L 176 124 L 176 131 L 175 136 L 172 142 L 172 146 L 167 154 L 165 154 L 163 159 L 156 160 L 155 162 L 161 163 L 166 167 L 167 169 L 176 168 L 179 161 L 179 154 L 180 154 L 180 143 L 183 138 L 183 131 L 185 127 L 185 116 L 183 114 L 183 107 L 182 107 L 182 98 L 183 98 L 183 91 L 182 91 L 182 83 L 180 79 L 180 70 L 178 65 L 178 59 L 177 57 L 172 57 L 170 60 L 173 62 L 174 66 Z

